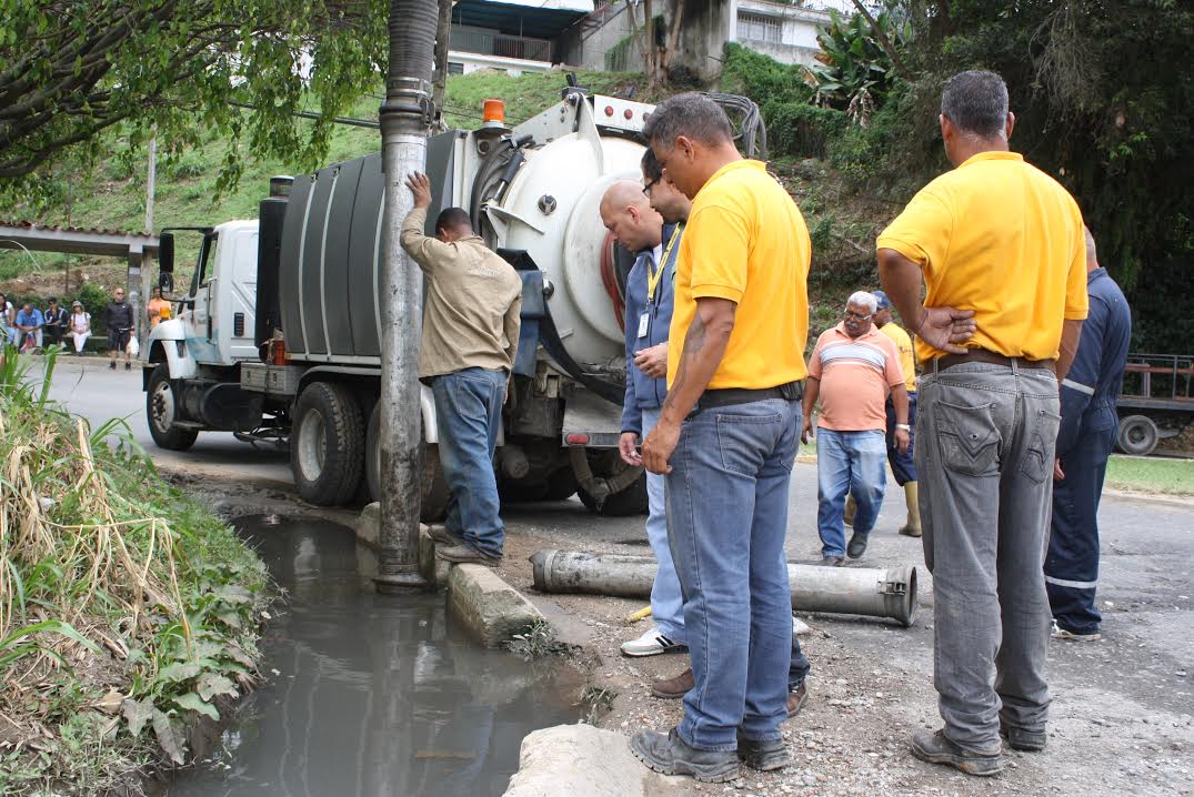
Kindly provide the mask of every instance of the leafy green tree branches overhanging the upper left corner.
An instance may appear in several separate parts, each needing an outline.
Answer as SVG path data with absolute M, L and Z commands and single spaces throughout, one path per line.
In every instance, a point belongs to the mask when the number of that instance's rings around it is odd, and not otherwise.
M 376 86 L 384 0 L 0 0 L 0 178 L 10 193 L 113 125 L 176 147 L 216 129 L 312 163 Z M 313 104 L 321 118 L 293 113 Z M 251 106 L 250 111 L 233 104 Z M 239 175 L 230 152 L 227 181 Z M 13 178 L 17 178 L 13 180 Z

